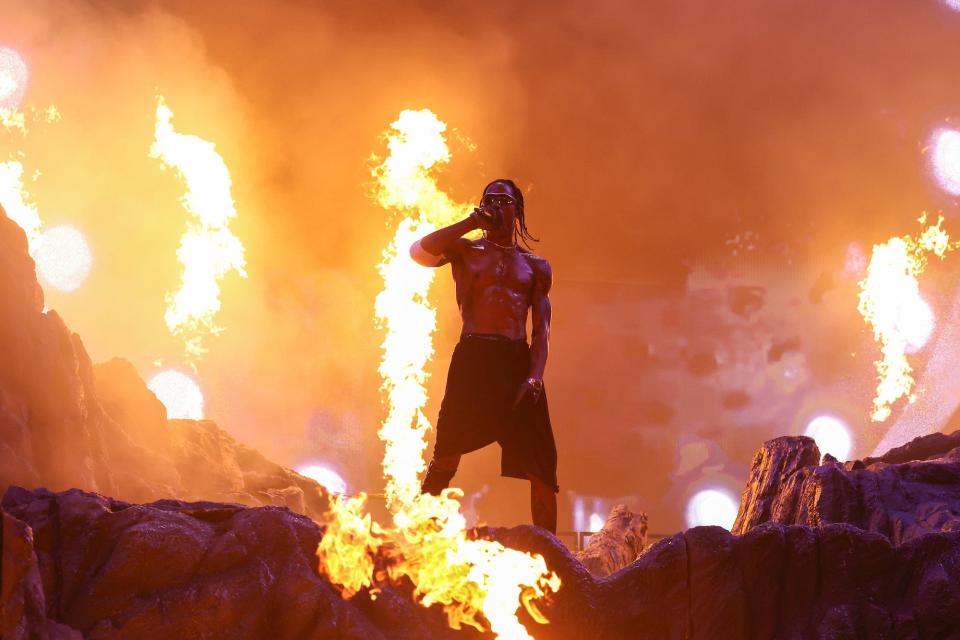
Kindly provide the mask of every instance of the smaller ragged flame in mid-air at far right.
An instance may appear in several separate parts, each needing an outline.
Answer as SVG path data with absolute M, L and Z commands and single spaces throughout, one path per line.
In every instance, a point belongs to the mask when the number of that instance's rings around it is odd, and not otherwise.
M 919 222 L 926 224 L 923 214 Z M 923 304 L 917 277 L 927 265 L 928 254 L 943 258 L 947 251 L 957 247 L 940 225 L 927 227 L 916 238 L 891 238 L 874 245 L 867 277 L 860 282 L 858 309 L 864 320 L 873 326 L 873 337 L 880 344 L 883 355 L 876 362 L 877 394 L 873 399 L 871 418 L 882 422 L 890 417 L 890 405 L 909 396 L 913 389 L 913 368 L 907 361 L 909 332 L 904 319 L 911 307 Z

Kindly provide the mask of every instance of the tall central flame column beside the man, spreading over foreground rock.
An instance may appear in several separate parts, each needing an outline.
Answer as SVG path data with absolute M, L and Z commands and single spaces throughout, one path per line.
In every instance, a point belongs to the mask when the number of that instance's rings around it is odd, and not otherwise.
M 457 204 L 436 185 L 432 172 L 450 160 L 446 125 L 428 110 L 404 111 L 388 134 L 390 151 L 377 166 L 377 202 L 407 214 L 384 251 L 384 289 L 376 316 L 386 330 L 380 365 L 388 414 L 380 429 L 387 507 L 393 526 L 380 527 L 363 513 L 363 495 L 332 500 L 329 524 L 317 549 L 322 570 L 344 597 L 376 581 L 408 577 L 423 606 L 440 603 L 454 629 L 487 625 L 498 636 L 530 638 L 517 619 L 520 604 L 535 620 L 546 619 L 534 601 L 560 588 L 539 555 L 507 549 L 491 540 L 468 540 L 459 489 L 421 495 L 418 475 L 430 423 L 425 367 L 433 356 L 436 310 L 427 302 L 436 271 L 416 265 L 407 247 L 417 238 L 461 219 L 469 205 Z M 377 558 L 384 558 L 377 561 Z M 382 562 L 382 565 L 378 564 Z M 382 566 L 383 568 L 378 568 Z

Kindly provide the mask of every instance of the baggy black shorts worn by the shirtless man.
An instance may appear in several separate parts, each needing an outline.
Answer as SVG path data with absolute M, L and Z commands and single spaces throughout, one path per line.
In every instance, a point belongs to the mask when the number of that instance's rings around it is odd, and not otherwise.
M 544 389 L 513 402 L 530 370 L 525 340 L 464 334 L 453 351 L 437 420 L 434 457 L 476 451 L 500 443 L 500 475 L 533 475 L 559 491 L 557 447 Z

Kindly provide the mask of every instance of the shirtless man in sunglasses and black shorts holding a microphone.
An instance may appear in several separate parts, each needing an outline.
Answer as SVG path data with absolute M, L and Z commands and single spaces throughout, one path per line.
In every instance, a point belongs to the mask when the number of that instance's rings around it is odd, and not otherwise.
M 418 264 L 450 263 L 463 318 L 423 491 L 439 494 L 462 454 L 499 442 L 501 475 L 530 481 L 533 523 L 556 533 L 557 451 L 543 387 L 553 276 L 545 259 L 518 244 L 536 239 L 527 231 L 523 194 L 513 181 L 491 182 L 480 205 L 410 247 Z M 484 237 L 462 237 L 474 229 Z

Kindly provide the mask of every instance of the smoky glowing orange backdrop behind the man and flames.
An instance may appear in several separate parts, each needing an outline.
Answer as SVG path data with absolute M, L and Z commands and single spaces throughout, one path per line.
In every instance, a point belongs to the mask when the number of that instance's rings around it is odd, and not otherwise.
M 818 411 L 855 427 L 856 456 L 882 437 L 844 265 L 851 243 L 869 257 L 924 209 L 956 235 L 924 147 L 960 116 L 958 32 L 934 0 L 3 0 L 25 103 L 62 120 L 0 137 L 0 155 L 22 150 L 45 225 L 91 246 L 87 282 L 48 290 L 48 306 L 95 362 L 124 357 L 146 379 L 182 350 L 163 315 L 183 186 L 148 157 L 162 93 L 177 130 L 226 160 L 246 247 L 249 278 L 222 282 L 226 331 L 198 368 L 207 416 L 278 462 L 379 491 L 373 300 L 393 220 L 368 197 L 370 155 L 400 110 L 430 108 L 456 130 L 451 196 L 513 177 L 553 264 L 561 490 L 622 497 L 671 532 L 691 491 L 739 491 L 760 443 Z M 951 264 L 924 285 L 938 317 Z M 459 331 L 447 271 L 435 292 L 431 417 Z M 498 456 L 465 458 L 457 483 L 482 494 L 467 500 L 482 520 L 525 522 Z

